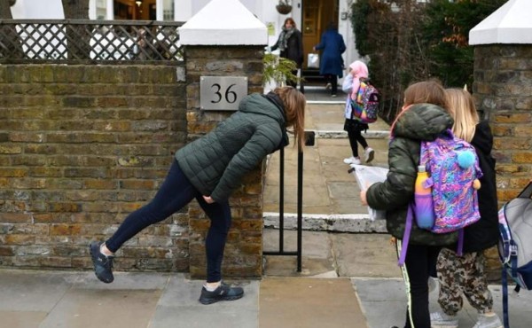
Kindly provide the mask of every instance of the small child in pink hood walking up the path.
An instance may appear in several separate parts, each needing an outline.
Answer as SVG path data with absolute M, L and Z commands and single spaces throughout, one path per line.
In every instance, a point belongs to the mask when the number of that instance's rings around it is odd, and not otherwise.
M 369 163 L 373 160 L 375 151 L 368 146 L 366 139 L 362 136 L 362 131 L 369 129 L 368 124 L 360 121 L 353 115 L 351 108 L 351 99 L 356 99 L 356 93 L 360 88 L 360 79 L 367 79 L 368 67 L 360 60 L 356 60 L 348 67 L 348 74 L 344 79 L 341 89 L 348 93 L 346 100 L 344 130 L 348 132 L 349 145 L 351 146 L 352 156 L 344 159 L 346 164 L 360 164 L 360 157 L 358 156 L 358 144 L 364 148 L 364 161 Z

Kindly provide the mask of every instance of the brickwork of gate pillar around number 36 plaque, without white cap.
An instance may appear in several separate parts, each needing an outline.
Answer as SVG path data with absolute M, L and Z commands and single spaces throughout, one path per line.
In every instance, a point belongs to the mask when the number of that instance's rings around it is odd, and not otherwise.
M 200 76 L 246 76 L 248 93 L 262 92 L 262 46 L 187 46 L 185 54 L 191 139 L 231 114 L 200 110 Z M 224 277 L 262 276 L 262 173 L 260 166 L 246 175 L 230 199 L 232 226 L 222 265 Z M 206 277 L 204 243 L 209 220 L 196 202 L 189 207 L 189 215 L 191 276 Z

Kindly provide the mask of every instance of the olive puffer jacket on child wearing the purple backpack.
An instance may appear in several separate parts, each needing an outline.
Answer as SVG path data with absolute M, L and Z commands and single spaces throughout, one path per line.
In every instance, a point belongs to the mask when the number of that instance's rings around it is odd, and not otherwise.
M 434 140 L 445 129 L 451 129 L 453 120 L 442 107 L 432 104 L 412 105 L 395 122 L 389 144 L 389 172 L 384 183 L 372 184 L 366 192 L 370 207 L 386 210 L 387 230 L 395 238 L 403 239 L 409 203 L 414 199 L 420 141 Z M 421 230 L 413 220 L 411 244 L 447 246 L 458 234 L 435 234 Z

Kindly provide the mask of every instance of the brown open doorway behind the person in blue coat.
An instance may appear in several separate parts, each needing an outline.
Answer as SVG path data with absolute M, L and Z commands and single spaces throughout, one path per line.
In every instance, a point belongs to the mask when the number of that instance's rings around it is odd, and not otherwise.
M 331 4 L 332 3 L 332 4 Z M 301 14 L 301 33 L 303 34 L 303 53 L 307 67 L 308 54 L 314 52 L 312 47 L 320 42 L 321 35 L 329 23 L 338 28 L 339 0 L 303 0 Z M 316 68 L 314 69 L 316 70 Z

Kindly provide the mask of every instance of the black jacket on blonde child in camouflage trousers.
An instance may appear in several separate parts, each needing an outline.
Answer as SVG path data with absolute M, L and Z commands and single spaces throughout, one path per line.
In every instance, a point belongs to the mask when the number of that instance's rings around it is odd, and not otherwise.
M 495 246 L 499 235 L 495 159 L 491 156 L 493 136 L 487 121 L 477 124 L 471 144 L 476 150 L 483 176 L 478 191 L 481 220 L 465 227 L 464 252 L 467 253 Z

